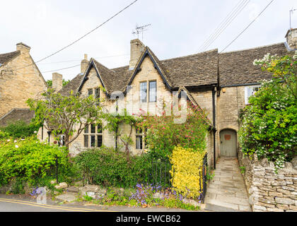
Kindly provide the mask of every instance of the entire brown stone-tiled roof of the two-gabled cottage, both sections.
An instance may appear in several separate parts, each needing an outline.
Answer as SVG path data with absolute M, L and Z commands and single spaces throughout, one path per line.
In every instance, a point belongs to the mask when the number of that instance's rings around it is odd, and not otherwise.
M 271 73 L 264 72 L 260 66 L 252 64 L 255 59 L 262 59 L 267 53 L 284 55 L 288 51 L 284 43 L 279 43 L 222 54 L 218 53 L 218 49 L 213 49 L 186 57 L 159 60 L 153 51 L 146 47 L 132 71 L 129 71 L 129 66 L 108 69 L 95 59 L 91 59 L 88 67 L 91 69 L 91 66 L 95 66 L 108 94 L 115 91 L 124 92 L 127 85 L 133 81 L 139 67 L 141 68 L 145 57 L 151 58 L 155 68 L 161 73 L 164 82 L 170 89 L 178 89 L 182 86 L 186 88 L 217 85 L 218 73 L 221 86 L 242 85 L 260 83 L 263 79 L 272 78 Z M 77 92 L 78 88 L 83 85 L 84 76 L 87 76 L 87 73 L 85 75 L 78 74 L 59 93 L 69 94 L 70 90 Z

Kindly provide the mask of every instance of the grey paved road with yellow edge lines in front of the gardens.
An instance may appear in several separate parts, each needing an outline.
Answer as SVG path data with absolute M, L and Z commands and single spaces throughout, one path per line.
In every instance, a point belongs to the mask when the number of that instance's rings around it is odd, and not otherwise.
M 47 204 L 38 204 L 30 196 L 0 194 L 0 212 L 186 212 L 173 208 L 136 208 L 127 206 L 101 206 L 87 203 L 59 204 L 47 198 Z

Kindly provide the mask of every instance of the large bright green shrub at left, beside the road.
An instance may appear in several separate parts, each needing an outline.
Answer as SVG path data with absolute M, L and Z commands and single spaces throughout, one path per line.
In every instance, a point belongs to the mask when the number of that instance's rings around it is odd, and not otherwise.
M 32 185 L 45 178 L 55 178 L 56 157 L 59 174 L 65 174 L 70 168 L 66 148 L 40 143 L 35 136 L 2 141 L 0 185 L 8 183 L 13 178 L 21 178 Z

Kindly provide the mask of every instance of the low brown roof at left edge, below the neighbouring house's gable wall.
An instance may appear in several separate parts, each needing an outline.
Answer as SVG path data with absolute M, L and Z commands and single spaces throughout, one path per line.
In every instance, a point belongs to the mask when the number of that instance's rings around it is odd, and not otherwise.
M 13 108 L 10 112 L 4 114 L 0 118 L 0 126 L 7 126 L 11 122 L 25 121 L 26 124 L 30 124 L 30 121 L 34 118 L 34 111 L 28 108 Z

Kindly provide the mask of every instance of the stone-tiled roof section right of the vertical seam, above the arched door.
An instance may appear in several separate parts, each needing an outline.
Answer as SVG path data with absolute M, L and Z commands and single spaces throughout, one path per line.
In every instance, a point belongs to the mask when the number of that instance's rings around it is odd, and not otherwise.
M 272 74 L 254 66 L 255 59 L 262 59 L 265 54 L 288 53 L 284 43 L 272 44 L 254 49 L 244 49 L 219 54 L 219 80 L 221 86 L 260 83 L 264 79 L 271 79 Z

